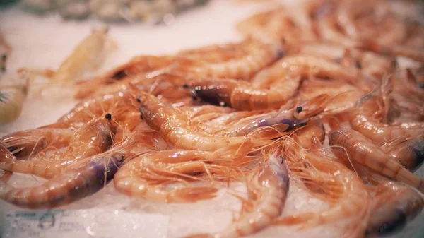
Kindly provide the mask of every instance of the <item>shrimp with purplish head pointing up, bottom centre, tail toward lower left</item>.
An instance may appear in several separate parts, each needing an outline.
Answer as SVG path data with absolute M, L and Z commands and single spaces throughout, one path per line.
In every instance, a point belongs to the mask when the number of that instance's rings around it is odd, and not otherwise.
M 289 191 L 287 164 L 276 152 L 256 167 L 246 181 L 250 206 L 243 209 L 240 218 L 216 234 L 190 237 L 243 237 L 268 227 L 283 211 Z

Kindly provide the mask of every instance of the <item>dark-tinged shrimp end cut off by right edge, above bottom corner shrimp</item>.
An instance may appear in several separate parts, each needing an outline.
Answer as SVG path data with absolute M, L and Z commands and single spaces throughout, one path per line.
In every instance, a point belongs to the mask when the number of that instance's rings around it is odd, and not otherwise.
M 411 138 L 400 136 L 381 146 L 384 153 L 394 157 L 401 165 L 411 171 L 415 171 L 424 161 L 424 137 Z

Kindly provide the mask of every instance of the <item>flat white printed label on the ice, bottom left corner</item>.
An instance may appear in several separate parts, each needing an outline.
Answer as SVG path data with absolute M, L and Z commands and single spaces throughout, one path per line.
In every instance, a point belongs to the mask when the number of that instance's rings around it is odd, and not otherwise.
M 169 216 L 122 210 L 15 210 L 4 238 L 166 238 Z

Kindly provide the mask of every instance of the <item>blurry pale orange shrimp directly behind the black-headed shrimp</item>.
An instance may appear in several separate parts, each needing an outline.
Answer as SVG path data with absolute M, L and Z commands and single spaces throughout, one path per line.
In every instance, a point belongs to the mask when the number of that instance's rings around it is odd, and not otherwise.
M 230 54 L 224 52 L 228 49 L 237 49 L 230 51 Z M 202 49 L 200 49 L 202 51 Z M 190 53 L 177 54 L 175 66 L 169 71 L 179 76 L 201 76 L 213 78 L 237 78 L 248 79 L 263 69 L 265 66 L 273 63 L 283 56 L 283 49 L 278 44 L 265 44 L 251 39 L 245 40 L 239 44 L 229 44 L 222 48 L 212 47 L 212 52 L 219 50 L 218 59 L 225 58 L 225 61 L 216 61 L 208 59 L 209 50 L 202 52 L 202 56 Z M 222 53 L 221 53 L 222 52 Z

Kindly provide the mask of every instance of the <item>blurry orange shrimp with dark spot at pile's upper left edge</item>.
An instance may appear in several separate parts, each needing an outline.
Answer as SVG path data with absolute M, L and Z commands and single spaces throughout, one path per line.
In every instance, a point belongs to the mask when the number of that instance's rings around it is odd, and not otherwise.
M 77 92 L 74 96 L 77 99 L 86 98 L 93 95 L 98 88 L 112 87 L 112 85 L 129 81 L 136 76 L 145 75 L 146 78 L 149 78 L 160 73 L 160 69 L 170 65 L 172 59 L 172 56 L 136 56 L 126 64 L 117 66 L 102 76 L 76 83 Z

